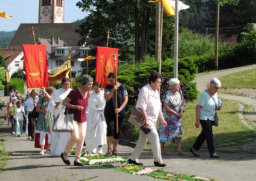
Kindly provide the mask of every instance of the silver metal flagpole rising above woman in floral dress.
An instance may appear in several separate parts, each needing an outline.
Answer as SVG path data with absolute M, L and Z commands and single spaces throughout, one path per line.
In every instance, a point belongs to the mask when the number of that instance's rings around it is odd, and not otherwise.
M 179 1 L 175 0 L 175 33 L 174 33 L 174 78 L 178 78 L 179 55 Z

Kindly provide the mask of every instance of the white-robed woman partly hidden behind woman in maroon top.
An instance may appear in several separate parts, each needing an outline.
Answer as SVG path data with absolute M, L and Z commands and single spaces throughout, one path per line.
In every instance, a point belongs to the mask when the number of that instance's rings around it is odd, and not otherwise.
M 72 90 L 70 89 L 70 80 L 69 78 L 63 78 L 61 80 L 61 89 L 57 89 L 52 93 L 52 97 L 49 101 L 48 109 L 49 112 L 52 113 L 53 117 L 55 118 L 63 108 L 61 104 L 62 101 L 67 97 L 69 92 Z M 52 125 L 53 126 L 53 125 Z M 60 156 L 63 152 L 67 142 L 70 138 L 70 133 L 56 133 L 52 131 L 51 133 L 51 156 Z

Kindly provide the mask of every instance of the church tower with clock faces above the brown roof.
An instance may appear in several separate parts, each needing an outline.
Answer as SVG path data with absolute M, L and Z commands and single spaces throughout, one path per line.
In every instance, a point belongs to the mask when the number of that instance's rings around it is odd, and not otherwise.
M 38 23 L 64 23 L 64 0 L 39 0 Z

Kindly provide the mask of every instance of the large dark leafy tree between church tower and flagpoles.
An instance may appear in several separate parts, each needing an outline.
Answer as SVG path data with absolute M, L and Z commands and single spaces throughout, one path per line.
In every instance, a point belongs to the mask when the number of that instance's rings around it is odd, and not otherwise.
M 90 13 L 77 30 L 92 45 L 106 45 L 106 31 L 111 31 L 111 47 L 120 48 L 121 61 L 143 61 L 146 54 L 154 55 L 155 41 L 155 5 L 138 0 L 82 0 L 77 3 L 82 11 Z M 169 20 L 169 22 L 168 22 Z M 164 21 L 167 46 L 170 51 L 173 18 Z M 91 31 L 91 32 L 90 32 Z M 170 41 L 169 41 L 170 40 Z M 167 51 L 167 52 L 168 52 Z M 168 54 L 168 53 L 167 53 Z

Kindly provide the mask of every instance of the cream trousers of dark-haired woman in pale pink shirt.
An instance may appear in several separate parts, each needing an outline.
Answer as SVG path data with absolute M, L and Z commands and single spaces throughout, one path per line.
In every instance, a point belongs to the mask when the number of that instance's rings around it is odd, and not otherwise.
M 156 131 L 156 127 L 153 127 L 152 131 L 148 134 L 145 134 L 143 133 L 143 131 L 140 131 L 139 140 L 132 152 L 132 155 L 129 158 L 133 161 L 136 161 L 136 159 L 140 157 L 141 152 L 143 152 L 143 149 L 145 148 L 147 141 L 149 141 L 151 144 L 154 161 L 161 162 L 162 155 L 161 155 L 160 142 L 159 142 L 159 137 Z

